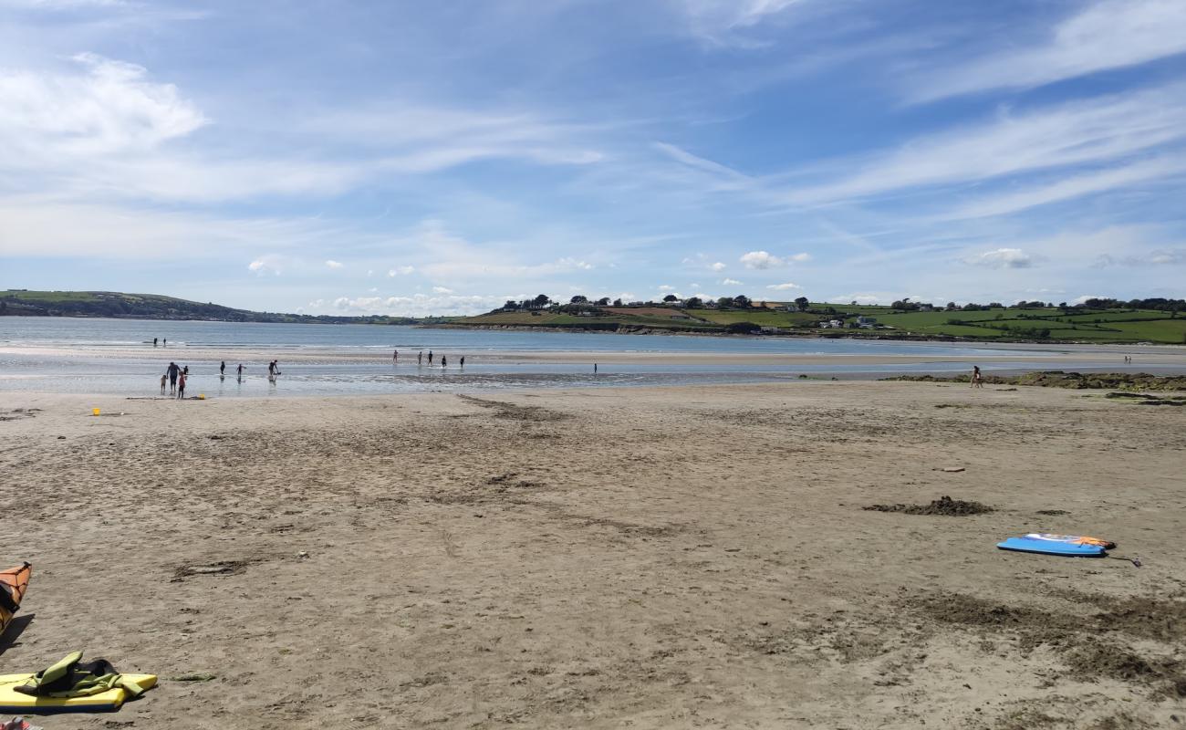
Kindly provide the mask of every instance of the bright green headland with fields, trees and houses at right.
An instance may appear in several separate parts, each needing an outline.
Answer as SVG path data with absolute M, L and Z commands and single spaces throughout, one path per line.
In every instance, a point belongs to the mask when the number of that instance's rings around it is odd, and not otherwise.
M 779 309 L 782 306 L 782 309 Z M 580 312 L 580 313 L 579 313 Z M 874 329 L 850 329 L 856 317 L 872 317 Z M 839 319 L 842 329 L 823 329 Z M 812 303 L 808 311 L 789 312 L 766 303 L 750 309 L 681 309 L 662 306 L 584 306 L 547 310 L 497 310 L 455 320 L 461 326 L 557 328 L 592 331 L 646 329 L 708 334 L 767 332 L 830 337 L 919 337 L 1016 342 L 1155 342 L 1186 343 L 1186 316 L 1169 311 L 1083 307 L 994 307 L 986 310 L 907 311 L 890 306 Z

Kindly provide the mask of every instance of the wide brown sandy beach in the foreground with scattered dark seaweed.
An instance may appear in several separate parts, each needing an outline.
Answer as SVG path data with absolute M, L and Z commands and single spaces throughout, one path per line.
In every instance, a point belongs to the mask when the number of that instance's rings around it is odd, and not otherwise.
M 1186 408 L 802 382 L 0 418 L 36 566 L 5 672 L 162 678 L 53 730 L 1186 723 Z M 862 509 L 943 495 L 996 510 Z M 994 548 L 1027 531 L 1144 565 Z

